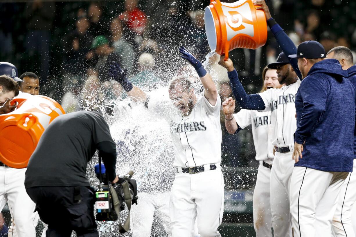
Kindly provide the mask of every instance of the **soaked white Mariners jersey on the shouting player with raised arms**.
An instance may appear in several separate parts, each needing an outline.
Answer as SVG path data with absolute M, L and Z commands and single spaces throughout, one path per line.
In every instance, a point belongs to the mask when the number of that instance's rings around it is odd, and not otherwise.
M 174 166 L 195 167 L 221 162 L 220 106 L 220 96 L 212 106 L 203 94 L 190 115 L 182 116 L 168 93 L 151 97 L 148 109 L 154 109 L 169 122 Z

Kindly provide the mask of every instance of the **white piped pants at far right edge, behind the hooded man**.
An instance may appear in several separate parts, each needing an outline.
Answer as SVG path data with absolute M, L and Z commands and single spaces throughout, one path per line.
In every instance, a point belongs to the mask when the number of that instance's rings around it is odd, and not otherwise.
M 354 160 L 353 172 L 350 173 L 342 185 L 339 202 L 333 217 L 334 237 L 355 237 L 352 224 L 352 208 L 356 201 L 356 162 Z

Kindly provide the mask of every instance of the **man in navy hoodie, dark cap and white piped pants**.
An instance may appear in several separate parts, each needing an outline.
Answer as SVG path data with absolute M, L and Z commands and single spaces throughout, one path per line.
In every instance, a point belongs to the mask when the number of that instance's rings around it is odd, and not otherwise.
M 319 42 L 305 41 L 289 57 L 298 58 L 303 75 L 295 96 L 293 233 L 330 236 L 337 197 L 354 161 L 355 88 L 339 61 L 324 60 Z

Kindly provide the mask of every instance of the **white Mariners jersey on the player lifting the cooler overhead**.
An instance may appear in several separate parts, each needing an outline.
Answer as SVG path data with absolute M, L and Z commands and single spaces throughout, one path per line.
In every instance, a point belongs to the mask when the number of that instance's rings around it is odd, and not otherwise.
M 294 149 L 294 132 L 297 129 L 295 118 L 295 94 L 297 94 L 301 81 L 282 86 L 280 89 L 268 89 L 258 93 L 265 102 L 263 112 L 271 112 L 271 129 L 273 134 L 272 144 L 279 147 L 288 146 Z

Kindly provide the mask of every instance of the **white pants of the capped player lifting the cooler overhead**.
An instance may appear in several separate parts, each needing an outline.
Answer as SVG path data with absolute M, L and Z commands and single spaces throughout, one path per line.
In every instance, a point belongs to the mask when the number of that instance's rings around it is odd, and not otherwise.
M 271 214 L 274 237 L 292 236 L 289 211 L 290 178 L 294 168 L 293 152 L 276 152 L 271 170 Z

